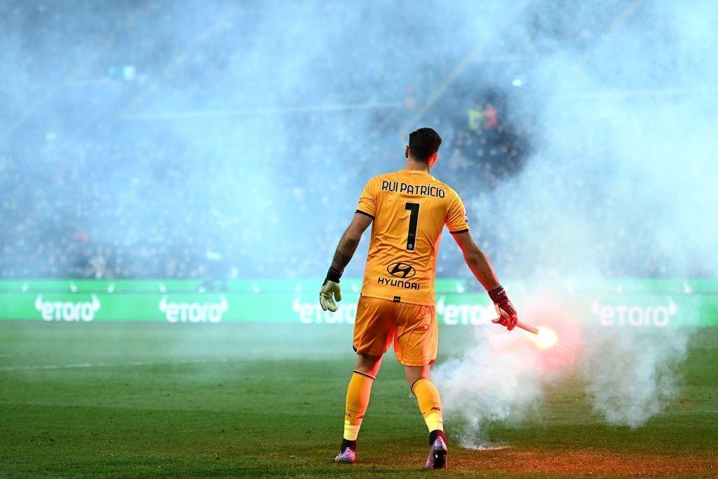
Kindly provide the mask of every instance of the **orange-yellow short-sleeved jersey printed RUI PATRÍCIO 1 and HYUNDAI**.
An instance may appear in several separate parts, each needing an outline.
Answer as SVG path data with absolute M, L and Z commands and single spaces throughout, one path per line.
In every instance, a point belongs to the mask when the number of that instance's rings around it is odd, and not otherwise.
M 457 192 L 427 172 L 402 169 L 369 180 L 357 213 L 373 218 L 361 294 L 434 305 L 442 229 L 469 230 Z

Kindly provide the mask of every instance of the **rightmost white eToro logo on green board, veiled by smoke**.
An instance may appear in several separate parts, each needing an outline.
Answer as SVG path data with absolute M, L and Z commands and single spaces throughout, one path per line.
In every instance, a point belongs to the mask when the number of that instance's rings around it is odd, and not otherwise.
M 591 312 L 603 326 L 656 326 L 666 327 L 671 316 L 678 311 L 676 303 L 668 298 L 668 304 L 640 306 L 637 304 L 601 304 L 596 299 Z

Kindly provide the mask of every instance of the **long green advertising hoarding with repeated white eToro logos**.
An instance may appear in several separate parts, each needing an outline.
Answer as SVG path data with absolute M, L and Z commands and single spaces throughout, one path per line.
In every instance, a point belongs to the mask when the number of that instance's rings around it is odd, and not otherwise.
M 358 279 L 342 280 L 344 300 L 322 311 L 316 279 L 233 280 L 8 280 L 0 281 L 0 320 L 170 323 L 353 323 Z M 496 316 L 487 295 L 464 279 L 437 281 L 440 325 L 482 325 Z M 607 327 L 718 326 L 718 280 L 564 279 L 506 282 L 521 310 L 536 297 L 573 320 Z

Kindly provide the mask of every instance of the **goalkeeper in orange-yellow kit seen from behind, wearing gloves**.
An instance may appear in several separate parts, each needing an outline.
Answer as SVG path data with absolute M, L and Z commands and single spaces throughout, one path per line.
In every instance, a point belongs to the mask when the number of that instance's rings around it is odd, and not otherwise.
M 355 462 L 357 437 L 371 386 L 384 353 L 393 344 L 429 429 L 429 459 L 425 467 L 446 467 L 442 403 L 429 378 L 429 369 L 437 358 L 434 272 L 444 225 L 493 300 L 499 324 L 508 330 L 516 326 L 516 310 L 471 236 L 461 198 L 429 174 L 439 157 L 441 142 L 433 129 L 414 131 L 404 152 L 406 168 L 367 182 L 320 291 L 322 309 L 336 311 L 335 301 L 341 300 L 342 271 L 352 259 L 362 234 L 373 223 L 354 325 L 357 365 L 347 390 L 344 436 L 336 462 Z

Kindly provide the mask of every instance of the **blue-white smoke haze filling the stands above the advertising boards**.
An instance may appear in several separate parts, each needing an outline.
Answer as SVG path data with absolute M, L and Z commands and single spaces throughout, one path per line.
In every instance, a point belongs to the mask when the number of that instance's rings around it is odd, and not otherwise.
M 318 275 L 422 125 L 503 276 L 717 273 L 712 2 L 0 8 L 6 276 Z

